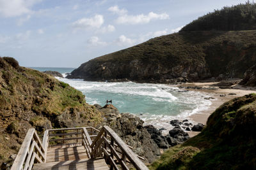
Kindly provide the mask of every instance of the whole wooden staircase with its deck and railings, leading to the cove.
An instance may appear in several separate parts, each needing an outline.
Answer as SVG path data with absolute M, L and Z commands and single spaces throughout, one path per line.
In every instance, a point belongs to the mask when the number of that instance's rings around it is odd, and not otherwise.
M 148 169 L 108 126 L 49 129 L 43 142 L 29 129 L 11 170 Z

